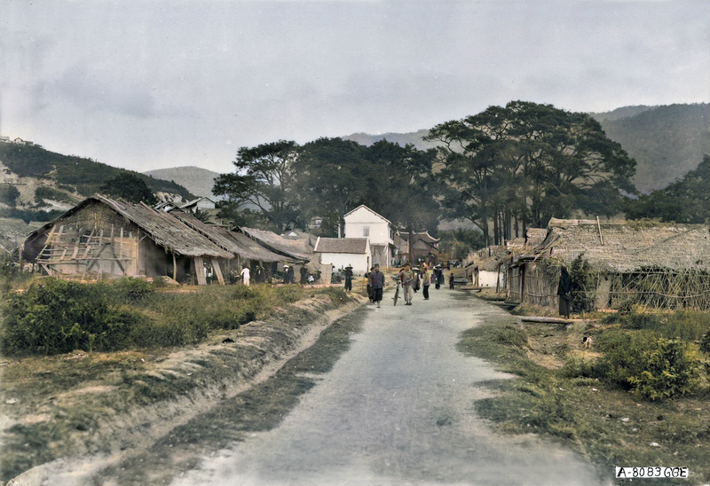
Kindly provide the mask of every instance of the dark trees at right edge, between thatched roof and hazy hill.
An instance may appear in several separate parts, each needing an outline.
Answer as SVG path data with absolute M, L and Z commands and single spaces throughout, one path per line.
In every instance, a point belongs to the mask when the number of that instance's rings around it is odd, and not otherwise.
M 710 223 L 710 156 L 698 168 L 665 188 L 627 200 L 627 218 L 658 218 L 663 222 Z

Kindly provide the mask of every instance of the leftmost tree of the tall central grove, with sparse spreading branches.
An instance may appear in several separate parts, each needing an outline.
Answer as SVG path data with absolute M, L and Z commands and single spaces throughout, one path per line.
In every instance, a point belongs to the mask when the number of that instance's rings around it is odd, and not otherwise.
M 255 208 L 277 231 L 290 225 L 304 227 L 301 215 L 302 194 L 296 190 L 296 161 L 301 147 L 293 141 L 280 140 L 256 147 L 241 147 L 233 174 L 215 179 L 212 193 L 226 196 L 225 205 L 233 210 L 245 205 Z

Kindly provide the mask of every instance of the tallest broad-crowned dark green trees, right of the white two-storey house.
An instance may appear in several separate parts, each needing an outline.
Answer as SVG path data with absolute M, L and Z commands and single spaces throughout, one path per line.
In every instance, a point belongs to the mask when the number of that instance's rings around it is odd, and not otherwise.
M 491 224 L 501 244 L 552 216 L 612 216 L 622 192 L 635 192 L 635 161 L 588 114 L 512 101 L 442 123 L 427 139 L 442 144 L 446 215 L 476 224 L 486 244 Z

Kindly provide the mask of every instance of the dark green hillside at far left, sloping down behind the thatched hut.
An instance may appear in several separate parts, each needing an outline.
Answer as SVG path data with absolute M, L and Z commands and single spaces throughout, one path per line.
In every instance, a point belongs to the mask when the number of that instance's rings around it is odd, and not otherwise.
M 53 179 L 58 185 L 61 184 L 70 192 L 77 192 L 82 196 L 99 192 L 101 184 L 128 172 L 145 181 L 153 192 L 169 192 L 185 200 L 192 198 L 192 194 L 185 187 L 174 182 L 155 179 L 75 155 L 50 152 L 37 145 L 0 144 L 0 161 L 20 177 Z

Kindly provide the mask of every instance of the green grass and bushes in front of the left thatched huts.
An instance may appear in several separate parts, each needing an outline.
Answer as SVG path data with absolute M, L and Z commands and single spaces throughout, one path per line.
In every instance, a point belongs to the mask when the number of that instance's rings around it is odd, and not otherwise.
M 335 288 L 205 286 L 185 293 L 138 278 L 91 284 L 43 278 L 4 299 L 0 337 L 7 356 L 184 346 L 316 295 L 347 299 Z

